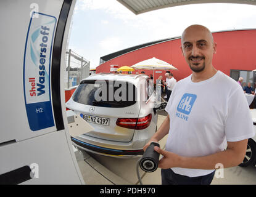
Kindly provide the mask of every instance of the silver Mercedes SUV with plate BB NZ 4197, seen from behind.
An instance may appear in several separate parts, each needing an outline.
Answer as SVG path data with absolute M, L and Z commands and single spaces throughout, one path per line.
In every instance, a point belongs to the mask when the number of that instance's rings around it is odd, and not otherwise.
M 157 130 L 154 93 L 145 74 L 94 74 L 83 79 L 66 107 L 94 131 L 72 137 L 73 145 L 100 155 L 142 155 Z

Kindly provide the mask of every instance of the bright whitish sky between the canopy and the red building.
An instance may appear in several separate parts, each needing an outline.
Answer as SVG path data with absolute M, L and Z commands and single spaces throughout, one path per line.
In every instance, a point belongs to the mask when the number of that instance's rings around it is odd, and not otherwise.
M 96 68 L 104 55 L 180 36 L 192 24 L 205 25 L 211 31 L 256 28 L 256 6 L 193 4 L 135 15 L 115 0 L 78 0 L 68 49 L 85 57 L 91 68 Z

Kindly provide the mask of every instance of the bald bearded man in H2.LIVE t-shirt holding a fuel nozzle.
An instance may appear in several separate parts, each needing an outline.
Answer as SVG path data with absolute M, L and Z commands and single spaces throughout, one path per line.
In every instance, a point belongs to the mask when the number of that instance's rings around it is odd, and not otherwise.
M 192 74 L 176 83 L 168 116 L 144 150 L 168 134 L 166 150 L 154 147 L 163 155 L 162 184 L 210 184 L 218 167 L 242 163 L 254 136 L 252 117 L 239 84 L 212 65 L 217 51 L 212 33 L 191 25 L 181 44 Z

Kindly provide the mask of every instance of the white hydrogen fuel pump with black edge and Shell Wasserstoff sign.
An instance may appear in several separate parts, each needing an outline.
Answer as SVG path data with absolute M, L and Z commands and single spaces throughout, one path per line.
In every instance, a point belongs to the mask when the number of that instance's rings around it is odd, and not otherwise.
M 0 2 L 0 184 L 83 184 L 67 128 L 65 50 L 75 1 Z

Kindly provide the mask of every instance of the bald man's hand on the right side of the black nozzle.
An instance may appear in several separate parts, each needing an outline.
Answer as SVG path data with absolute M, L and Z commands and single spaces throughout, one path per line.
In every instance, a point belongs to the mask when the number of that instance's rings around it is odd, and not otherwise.
M 171 153 L 165 150 L 162 150 L 159 147 L 154 147 L 154 150 L 160 155 L 163 155 L 163 158 L 160 159 L 158 167 L 162 169 L 168 169 L 171 167 L 178 167 L 181 161 L 181 157 L 176 155 L 175 153 Z

